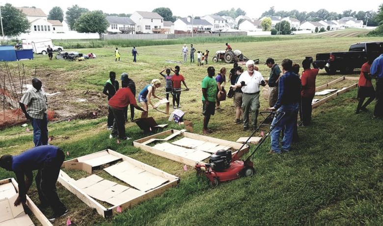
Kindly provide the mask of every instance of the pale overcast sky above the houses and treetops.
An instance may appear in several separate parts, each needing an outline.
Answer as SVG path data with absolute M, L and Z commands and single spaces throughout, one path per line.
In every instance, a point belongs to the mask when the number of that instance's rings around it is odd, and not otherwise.
M 270 2 L 270 3 L 269 3 Z M 367 3 L 368 2 L 368 3 Z M 49 11 L 59 6 L 63 9 L 64 15 L 68 7 L 78 4 L 80 7 L 89 10 L 102 10 L 105 13 L 133 13 L 135 11 L 152 11 L 158 7 L 168 7 L 175 16 L 186 17 L 188 15 L 204 16 L 221 10 L 241 8 L 251 18 L 258 18 L 271 6 L 275 11 L 318 11 L 321 8 L 329 12 L 342 13 L 344 10 L 353 11 L 378 11 L 382 0 L 363 1 L 340 1 L 340 0 L 0 0 L 0 4 L 11 3 L 15 7 L 35 6 L 41 8 L 47 15 Z M 239 4 L 238 4 L 239 3 Z

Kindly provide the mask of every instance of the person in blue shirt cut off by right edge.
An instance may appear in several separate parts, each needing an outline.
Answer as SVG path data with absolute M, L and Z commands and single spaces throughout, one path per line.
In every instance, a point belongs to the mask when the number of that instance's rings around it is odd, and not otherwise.
M 383 54 L 372 62 L 370 72 L 372 78 L 376 78 L 374 117 L 383 117 Z

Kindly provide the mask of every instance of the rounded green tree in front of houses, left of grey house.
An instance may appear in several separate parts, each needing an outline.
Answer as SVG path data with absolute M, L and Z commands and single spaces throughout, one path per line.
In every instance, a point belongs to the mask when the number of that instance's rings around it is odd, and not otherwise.
M 105 33 L 109 27 L 103 11 L 96 10 L 83 13 L 75 23 L 78 32 Z

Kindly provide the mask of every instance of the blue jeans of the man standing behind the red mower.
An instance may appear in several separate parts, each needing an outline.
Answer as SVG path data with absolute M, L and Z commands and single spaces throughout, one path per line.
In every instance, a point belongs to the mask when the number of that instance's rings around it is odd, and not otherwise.
M 277 124 L 276 121 L 282 116 L 282 114 L 274 117 L 272 125 L 275 125 L 273 131 L 271 132 L 271 147 L 277 153 L 281 153 L 279 148 L 279 137 L 280 132 L 285 128 L 283 139 L 282 139 L 282 150 L 289 151 L 291 143 L 293 141 L 294 133 L 294 123 L 296 123 L 296 116 L 299 109 L 299 103 L 282 105 L 277 112 L 284 112 L 285 115 L 279 120 Z

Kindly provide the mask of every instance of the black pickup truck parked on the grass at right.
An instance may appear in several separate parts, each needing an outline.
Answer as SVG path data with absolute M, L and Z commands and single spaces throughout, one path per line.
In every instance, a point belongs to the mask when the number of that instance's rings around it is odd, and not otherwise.
M 329 75 L 334 75 L 337 70 L 341 74 L 350 74 L 354 68 L 361 68 L 367 62 L 367 55 L 375 59 L 381 54 L 383 42 L 360 42 L 352 44 L 348 52 L 317 54 L 314 63 L 321 69 L 325 68 Z

